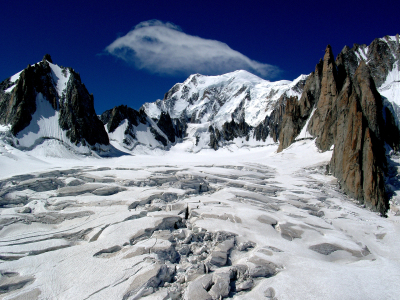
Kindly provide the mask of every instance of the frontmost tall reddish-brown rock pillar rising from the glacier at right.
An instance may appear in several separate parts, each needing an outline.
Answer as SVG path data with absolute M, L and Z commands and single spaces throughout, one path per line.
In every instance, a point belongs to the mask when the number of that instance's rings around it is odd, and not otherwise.
M 365 63 L 357 68 L 354 80 L 346 79 L 336 109 L 331 172 L 346 193 L 385 214 L 382 102 Z

